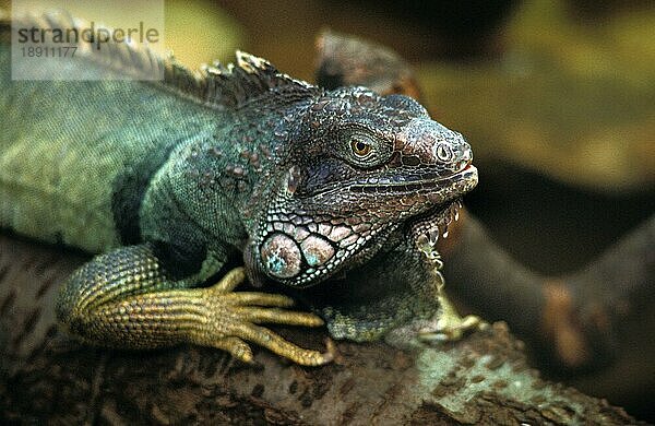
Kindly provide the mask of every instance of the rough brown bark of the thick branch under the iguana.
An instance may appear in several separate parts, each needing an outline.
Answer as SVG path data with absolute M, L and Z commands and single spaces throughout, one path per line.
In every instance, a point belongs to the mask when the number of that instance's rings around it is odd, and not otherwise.
M 59 284 L 84 257 L 0 236 L 0 419 L 52 424 L 635 423 L 621 409 L 541 380 L 503 323 L 457 343 L 403 352 L 338 342 L 336 363 L 305 368 L 255 348 L 80 345 L 55 324 Z M 320 331 L 281 330 L 320 347 Z

